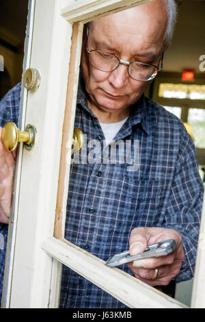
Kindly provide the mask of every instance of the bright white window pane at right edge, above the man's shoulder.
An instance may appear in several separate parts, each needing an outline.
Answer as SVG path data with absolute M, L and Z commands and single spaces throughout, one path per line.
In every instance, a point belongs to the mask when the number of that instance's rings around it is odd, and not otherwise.
M 205 109 L 189 108 L 188 123 L 192 127 L 195 147 L 205 149 Z

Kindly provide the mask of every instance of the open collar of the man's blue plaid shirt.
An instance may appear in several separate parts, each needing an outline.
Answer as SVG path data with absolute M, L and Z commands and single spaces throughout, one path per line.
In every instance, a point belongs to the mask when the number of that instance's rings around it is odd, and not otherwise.
M 79 88 L 77 94 L 77 104 L 86 110 L 92 117 L 96 118 L 92 110 L 87 105 L 87 92 L 85 90 L 85 83 L 83 81 L 83 75 L 79 75 Z M 154 125 L 157 123 L 156 112 L 152 106 L 150 106 L 149 99 L 143 94 L 140 99 L 131 106 L 131 114 L 128 118 L 128 125 L 133 127 L 135 125 L 141 125 L 143 131 L 146 134 L 150 134 L 154 129 Z

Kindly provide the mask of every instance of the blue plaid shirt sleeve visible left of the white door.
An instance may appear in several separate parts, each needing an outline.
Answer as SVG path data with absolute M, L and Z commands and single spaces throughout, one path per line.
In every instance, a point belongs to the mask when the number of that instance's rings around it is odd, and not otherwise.
M 18 125 L 21 83 L 18 83 L 0 101 L 0 126 L 12 121 Z

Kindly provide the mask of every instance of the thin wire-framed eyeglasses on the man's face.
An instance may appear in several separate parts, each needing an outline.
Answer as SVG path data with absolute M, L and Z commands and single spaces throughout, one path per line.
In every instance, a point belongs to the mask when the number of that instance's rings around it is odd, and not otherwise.
M 88 29 L 87 29 L 88 36 Z M 120 64 L 128 66 L 128 75 L 138 81 L 149 81 L 156 77 L 157 73 L 163 70 L 163 53 L 161 57 L 161 67 L 154 66 L 152 64 L 146 64 L 144 62 L 126 62 L 126 60 L 120 60 L 117 56 L 105 53 L 98 49 L 87 50 L 89 54 L 89 61 L 96 69 L 100 71 L 111 72 L 118 68 Z

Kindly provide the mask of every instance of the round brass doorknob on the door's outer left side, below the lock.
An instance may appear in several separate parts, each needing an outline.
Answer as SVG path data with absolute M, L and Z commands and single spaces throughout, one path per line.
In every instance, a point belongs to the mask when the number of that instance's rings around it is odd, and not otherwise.
M 16 124 L 9 121 L 6 122 L 2 129 L 2 142 L 8 151 L 14 151 L 18 142 L 24 142 L 27 150 L 33 149 L 35 145 L 36 128 L 28 124 L 23 132 L 19 132 Z

